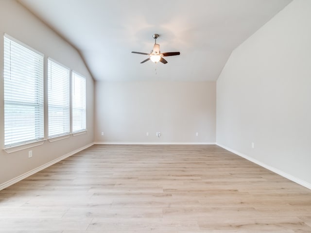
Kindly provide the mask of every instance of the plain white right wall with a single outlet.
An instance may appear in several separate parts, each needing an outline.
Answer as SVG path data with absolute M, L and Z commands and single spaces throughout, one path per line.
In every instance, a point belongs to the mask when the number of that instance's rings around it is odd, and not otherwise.
M 310 0 L 232 52 L 217 81 L 217 143 L 311 188 Z

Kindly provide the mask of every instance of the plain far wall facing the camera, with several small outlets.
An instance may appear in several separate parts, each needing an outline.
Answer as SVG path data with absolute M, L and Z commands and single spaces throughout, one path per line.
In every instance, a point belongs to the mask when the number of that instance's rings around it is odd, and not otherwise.
M 215 143 L 215 82 L 97 82 L 95 95 L 96 142 Z

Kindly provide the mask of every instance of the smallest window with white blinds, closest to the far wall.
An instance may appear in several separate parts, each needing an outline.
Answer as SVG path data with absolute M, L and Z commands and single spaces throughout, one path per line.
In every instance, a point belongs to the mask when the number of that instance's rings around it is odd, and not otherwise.
M 86 79 L 72 72 L 72 133 L 86 130 Z

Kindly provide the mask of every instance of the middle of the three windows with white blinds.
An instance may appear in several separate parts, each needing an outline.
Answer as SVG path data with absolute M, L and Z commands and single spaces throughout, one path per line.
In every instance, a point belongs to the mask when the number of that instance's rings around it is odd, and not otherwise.
M 49 137 L 70 133 L 69 68 L 48 59 Z

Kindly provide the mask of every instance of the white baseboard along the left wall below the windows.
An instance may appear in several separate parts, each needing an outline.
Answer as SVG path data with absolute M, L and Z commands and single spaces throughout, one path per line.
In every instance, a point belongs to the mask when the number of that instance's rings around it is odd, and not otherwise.
M 90 144 L 88 144 L 88 145 L 86 145 L 84 147 L 81 147 L 81 148 L 77 149 L 77 150 L 73 150 L 73 151 L 69 152 L 68 154 L 65 154 L 65 155 L 63 155 L 63 156 L 61 156 L 61 157 L 59 157 L 57 159 L 52 160 L 49 163 L 46 163 L 46 164 L 44 164 L 42 166 L 39 166 L 39 167 L 37 167 L 37 168 L 35 168 L 35 169 L 31 170 L 31 171 L 28 171 L 28 172 L 26 172 L 26 173 L 24 173 L 24 174 L 22 174 L 20 176 L 17 176 L 16 178 L 14 178 L 14 179 L 12 179 L 10 181 L 7 181 L 5 183 L 1 183 L 0 184 L 0 190 L 2 190 L 4 188 L 7 188 L 7 187 L 11 186 L 12 184 L 15 184 L 15 183 L 17 183 L 17 182 L 19 182 L 19 181 L 21 181 L 21 180 L 31 176 L 31 175 L 34 175 L 36 172 L 41 171 L 41 170 L 43 170 L 43 169 L 45 169 L 45 168 L 47 168 L 47 167 L 49 167 L 49 166 L 51 166 L 53 164 L 56 164 L 59 161 L 62 161 L 63 159 L 66 159 L 69 156 L 71 156 L 71 155 L 73 155 L 73 154 L 75 154 L 75 153 L 77 153 L 77 152 L 79 152 L 81 150 L 85 150 L 86 148 L 88 148 L 90 146 L 93 146 L 93 145 L 94 145 L 94 143 L 90 143 Z

